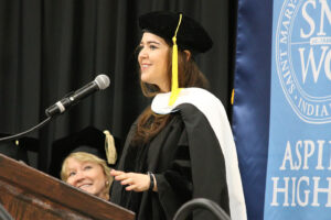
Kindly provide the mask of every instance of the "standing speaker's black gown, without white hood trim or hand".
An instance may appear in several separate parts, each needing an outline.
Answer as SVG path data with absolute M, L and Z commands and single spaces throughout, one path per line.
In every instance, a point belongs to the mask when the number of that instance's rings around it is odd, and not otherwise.
M 178 106 L 171 114 L 163 130 L 140 148 L 130 144 L 134 124 L 118 165 L 125 172 L 152 172 L 158 193 L 126 191 L 114 182 L 110 200 L 135 211 L 139 220 L 173 219 L 192 198 L 211 199 L 229 213 L 224 156 L 205 116 L 190 103 Z M 214 217 L 197 211 L 194 219 Z

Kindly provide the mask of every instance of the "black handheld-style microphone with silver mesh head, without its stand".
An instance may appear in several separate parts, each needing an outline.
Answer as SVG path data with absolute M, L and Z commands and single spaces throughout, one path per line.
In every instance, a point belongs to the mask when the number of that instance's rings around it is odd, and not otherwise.
M 55 105 L 49 107 L 45 110 L 47 117 L 53 117 L 58 113 L 63 113 L 66 109 L 77 103 L 79 100 L 84 99 L 85 97 L 98 91 L 100 89 L 106 89 L 110 84 L 110 79 L 106 75 L 98 75 L 95 80 L 90 81 L 89 84 L 85 85 L 83 88 L 71 92 L 68 96 L 64 97 Z

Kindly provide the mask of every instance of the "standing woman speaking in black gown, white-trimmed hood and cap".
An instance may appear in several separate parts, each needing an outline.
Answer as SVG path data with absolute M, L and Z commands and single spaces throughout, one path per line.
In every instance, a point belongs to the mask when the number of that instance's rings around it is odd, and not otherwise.
M 173 12 L 139 18 L 142 92 L 153 97 L 132 124 L 110 201 L 140 220 L 172 219 L 184 202 L 207 198 L 232 219 L 246 219 L 236 148 L 221 101 L 205 90 L 194 62 L 213 42 L 194 20 Z M 193 219 L 213 219 L 207 211 Z

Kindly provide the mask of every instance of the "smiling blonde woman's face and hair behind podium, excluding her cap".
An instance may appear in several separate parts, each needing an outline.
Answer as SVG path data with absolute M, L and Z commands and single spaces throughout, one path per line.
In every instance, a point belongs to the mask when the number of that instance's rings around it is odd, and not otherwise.
M 63 162 L 61 179 L 88 194 L 109 200 L 113 183 L 106 161 L 86 153 L 71 153 Z

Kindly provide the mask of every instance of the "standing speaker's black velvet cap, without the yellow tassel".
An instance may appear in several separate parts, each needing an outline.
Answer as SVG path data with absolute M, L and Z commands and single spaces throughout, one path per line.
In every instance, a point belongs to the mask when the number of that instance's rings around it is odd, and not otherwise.
M 141 30 L 172 42 L 179 24 L 179 18 L 180 13 L 174 12 L 150 12 L 139 16 L 139 26 Z M 182 50 L 204 53 L 213 46 L 213 41 L 200 23 L 183 14 L 177 33 L 177 44 Z

